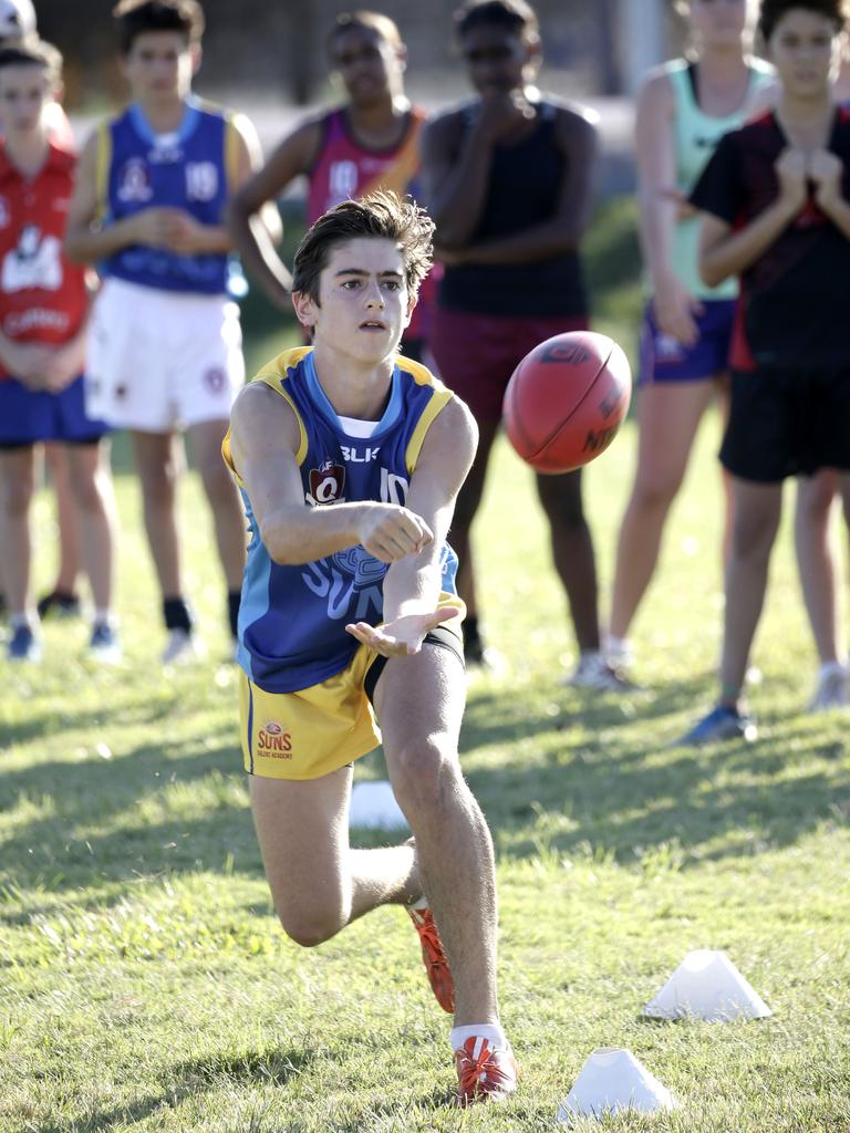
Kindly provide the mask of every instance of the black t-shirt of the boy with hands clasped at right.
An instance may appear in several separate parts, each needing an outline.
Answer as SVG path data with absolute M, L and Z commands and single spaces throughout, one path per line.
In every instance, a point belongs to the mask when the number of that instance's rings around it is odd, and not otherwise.
M 788 138 L 775 114 L 726 134 L 690 195 L 691 203 L 745 228 L 779 196 L 776 160 Z M 828 148 L 844 165 L 850 202 L 850 112 L 838 108 Z M 741 275 L 734 369 L 850 367 L 850 240 L 815 204 Z

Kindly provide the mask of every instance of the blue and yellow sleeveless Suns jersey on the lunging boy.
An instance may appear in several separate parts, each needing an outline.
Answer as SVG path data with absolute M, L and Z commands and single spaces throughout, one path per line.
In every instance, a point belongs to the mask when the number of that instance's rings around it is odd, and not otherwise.
M 284 351 L 256 381 L 280 393 L 295 410 L 304 499 L 315 508 L 359 500 L 403 505 L 425 435 L 452 397 L 424 366 L 399 358 L 386 410 L 364 440 L 345 432 L 316 377 L 312 347 Z M 222 451 L 232 470 L 229 434 Z M 346 624 L 381 622 L 388 564 L 363 546 L 296 566 L 272 562 L 238 475 L 236 480 L 250 529 L 237 659 L 267 692 L 320 684 L 341 672 L 358 647 Z M 456 594 L 458 560 L 448 544 L 441 563 L 442 590 Z

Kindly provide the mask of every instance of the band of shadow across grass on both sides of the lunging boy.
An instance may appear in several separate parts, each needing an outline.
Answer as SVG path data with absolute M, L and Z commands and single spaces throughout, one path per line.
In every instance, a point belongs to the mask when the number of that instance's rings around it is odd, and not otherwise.
M 647 749 L 652 722 L 669 731 L 664 718 L 699 704 L 709 687 L 706 675 L 634 698 L 639 729 L 615 697 L 583 700 L 552 689 L 524 702 L 504 690 L 474 693 L 461 747 L 500 851 L 529 857 L 542 846 L 561 854 L 590 847 L 634 863 L 672 843 L 687 868 L 793 844 L 824 823 L 845 820 L 850 768 L 838 719 L 768 719 L 756 744 Z M 6 876 L 43 893 L 104 891 L 159 874 L 222 870 L 230 858 L 230 869 L 262 877 L 239 767 L 235 743 L 213 740 L 203 749 L 164 741 L 112 760 L 0 772 L 3 804 L 51 800 L 48 812 L 12 828 Z M 364 769 L 385 774 L 380 755 Z M 188 792 L 179 790 L 186 785 Z M 354 836 L 360 846 L 392 841 L 375 832 Z

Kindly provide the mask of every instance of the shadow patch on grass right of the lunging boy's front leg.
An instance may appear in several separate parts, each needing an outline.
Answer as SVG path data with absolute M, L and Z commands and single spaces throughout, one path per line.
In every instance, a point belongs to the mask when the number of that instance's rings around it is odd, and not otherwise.
M 847 820 L 850 744 L 839 718 L 767 718 L 754 744 L 673 746 L 664 718 L 700 704 L 709 688 L 708 678 L 682 682 L 635 698 L 628 714 L 622 698 L 553 690 L 549 710 L 535 701 L 536 717 L 522 715 L 516 698 L 474 695 L 462 750 L 500 850 L 519 858 L 589 850 L 634 863 L 672 844 L 688 868 L 790 845 Z M 576 705 L 580 712 L 570 712 Z M 629 731 L 632 710 L 641 740 Z M 653 719 L 663 740 L 647 749 Z M 518 744 L 505 765 L 504 750 Z

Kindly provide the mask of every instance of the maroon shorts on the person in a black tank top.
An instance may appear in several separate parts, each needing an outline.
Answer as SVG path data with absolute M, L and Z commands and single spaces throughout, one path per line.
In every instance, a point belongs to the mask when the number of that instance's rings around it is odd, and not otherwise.
M 511 374 L 529 350 L 553 334 L 586 331 L 584 315 L 545 318 L 434 312 L 428 347 L 443 382 L 469 406 L 478 421 L 498 421 Z

